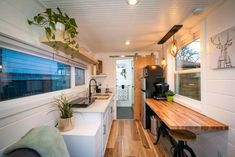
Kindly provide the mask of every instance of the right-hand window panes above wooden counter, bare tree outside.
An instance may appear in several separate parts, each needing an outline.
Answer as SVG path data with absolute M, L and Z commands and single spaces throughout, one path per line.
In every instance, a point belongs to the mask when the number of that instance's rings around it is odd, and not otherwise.
M 200 39 L 182 47 L 176 56 L 175 93 L 201 101 Z

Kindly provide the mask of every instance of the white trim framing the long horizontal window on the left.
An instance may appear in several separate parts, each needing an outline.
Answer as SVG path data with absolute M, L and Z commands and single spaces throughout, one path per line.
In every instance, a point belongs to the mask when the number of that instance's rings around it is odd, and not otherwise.
M 53 60 L 56 62 L 60 62 L 63 64 L 67 64 L 70 65 L 70 88 L 68 89 L 62 89 L 62 90 L 58 90 L 58 91 L 52 91 L 52 92 L 47 92 L 47 93 L 40 93 L 40 94 L 36 94 L 36 95 L 31 95 L 31 96 L 26 96 L 26 97 L 19 97 L 19 98 L 14 98 L 14 99 L 10 99 L 10 100 L 4 100 L 4 101 L 0 101 L 0 111 L 1 111 L 1 106 L 5 106 L 5 104 L 10 104 L 12 108 L 15 104 L 20 100 L 20 103 L 24 102 L 24 100 L 31 100 L 32 98 L 35 98 L 37 96 L 39 96 L 39 98 L 41 98 L 41 95 L 54 95 L 57 93 L 64 93 L 67 92 L 67 90 L 73 90 L 74 88 L 84 88 L 86 86 L 86 80 L 85 80 L 85 84 L 81 85 L 81 86 L 75 86 L 75 82 L 74 82 L 74 70 L 75 67 L 77 68 L 81 68 L 85 70 L 85 78 L 87 78 L 87 69 L 88 68 L 88 64 L 85 64 L 83 62 L 80 62 L 77 59 L 70 59 L 67 58 L 67 56 L 65 54 L 56 54 L 54 52 L 52 52 L 51 50 L 46 49 L 43 46 L 35 46 L 31 43 L 27 43 L 25 41 L 22 41 L 20 39 L 8 36 L 4 33 L 0 32 L 0 47 L 1 48 L 6 48 L 6 49 L 10 49 L 13 51 L 17 51 L 17 52 L 21 52 L 27 55 L 32 55 L 35 57 L 40 57 L 40 58 L 44 58 L 44 59 L 48 59 L 48 60 Z M 74 79 L 73 79 L 74 78 Z M 73 83 L 74 82 L 74 83 Z M 77 90 L 76 90 L 77 91 Z M 19 104 L 18 104 L 19 105 Z M 17 105 L 16 105 L 17 106 Z M 19 105 L 20 106 L 20 105 Z

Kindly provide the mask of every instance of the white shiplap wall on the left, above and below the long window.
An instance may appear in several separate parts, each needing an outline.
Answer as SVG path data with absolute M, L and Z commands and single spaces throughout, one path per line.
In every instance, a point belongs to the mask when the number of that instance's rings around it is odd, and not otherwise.
M 36 0 L 0 1 L 0 32 L 52 51 L 51 48 L 38 42 L 43 33 L 42 29 L 27 24 L 27 18 L 32 18 L 44 9 Z M 16 142 L 31 128 L 54 125 L 58 116 L 54 111 L 55 97 L 61 93 L 71 99 L 84 96 L 89 78 L 88 68 L 84 86 L 0 102 L 0 156 L 7 146 Z

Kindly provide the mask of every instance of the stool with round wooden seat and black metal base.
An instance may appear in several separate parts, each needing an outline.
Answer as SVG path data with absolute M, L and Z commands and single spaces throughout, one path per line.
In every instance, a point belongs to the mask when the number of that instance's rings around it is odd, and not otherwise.
M 188 151 L 191 157 L 196 157 L 191 147 L 187 145 L 188 141 L 195 141 L 196 135 L 187 130 L 173 131 L 170 130 L 169 134 L 175 140 L 178 140 L 176 145 L 173 145 L 174 153 L 173 157 L 183 157 L 184 150 Z

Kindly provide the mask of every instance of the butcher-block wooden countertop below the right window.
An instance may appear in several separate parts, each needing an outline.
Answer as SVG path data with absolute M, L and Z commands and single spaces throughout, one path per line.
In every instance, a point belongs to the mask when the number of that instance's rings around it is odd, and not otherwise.
M 172 130 L 197 133 L 228 130 L 228 126 L 178 103 L 148 98 L 146 104 Z

